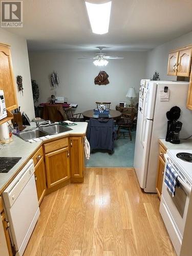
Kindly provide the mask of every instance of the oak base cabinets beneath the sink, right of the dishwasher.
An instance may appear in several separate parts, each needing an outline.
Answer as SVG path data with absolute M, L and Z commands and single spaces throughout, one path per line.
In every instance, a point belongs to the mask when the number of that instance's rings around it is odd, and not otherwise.
M 39 205 L 45 195 L 69 184 L 83 182 L 84 136 L 51 140 L 33 155 Z

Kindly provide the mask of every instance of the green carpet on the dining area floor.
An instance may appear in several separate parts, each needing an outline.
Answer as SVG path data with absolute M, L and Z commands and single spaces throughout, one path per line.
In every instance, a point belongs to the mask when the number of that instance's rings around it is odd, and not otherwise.
M 110 155 L 106 152 L 92 153 L 90 159 L 86 161 L 87 167 L 133 167 L 135 134 L 132 132 L 132 141 L 130 138 L 121 134 L 118 140 L 115 140 L 114 153 Z M 125 135 L 126 136 L 126 135 Z

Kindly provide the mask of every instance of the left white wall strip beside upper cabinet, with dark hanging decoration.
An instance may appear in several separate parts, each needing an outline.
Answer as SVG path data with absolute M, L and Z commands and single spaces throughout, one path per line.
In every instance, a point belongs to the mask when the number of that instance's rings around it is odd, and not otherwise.
M 35 114 L 31 88 L 31 75 L 29 68 L 27 41 L 25 38 L 10 33 L 1 28 L 0 41 L 11 46 L 13 74 L 15 77 L 15 86 L 20 111 L 25 111 L 29 118 L 33 119 Z M 23 77 L 24 96 L 22 95 L 22 92 L 18 92 L 16 84 L 17 75 L 21 75 Z

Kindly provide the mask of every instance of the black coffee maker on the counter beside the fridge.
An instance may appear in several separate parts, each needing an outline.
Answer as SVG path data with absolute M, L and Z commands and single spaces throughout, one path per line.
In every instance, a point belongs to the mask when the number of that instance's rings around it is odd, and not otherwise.
M 173 144 L 179 144 L 179 133 L 181 131 L 182 122 L 178 121 L 181 114 L 181 109 L 178 106 L 173 106 L 167 113 L 167 133 L 166 141 L 169 141 Z

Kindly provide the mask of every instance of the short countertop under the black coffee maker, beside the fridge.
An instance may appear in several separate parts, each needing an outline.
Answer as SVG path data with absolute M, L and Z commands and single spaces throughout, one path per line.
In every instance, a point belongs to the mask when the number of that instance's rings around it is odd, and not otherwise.
M 166 150 L 192 150 L 192 139 L 181 140 L 180 144 L 173 144 L 165 141 L 165 139 L 159 139 L 159 142 Z

